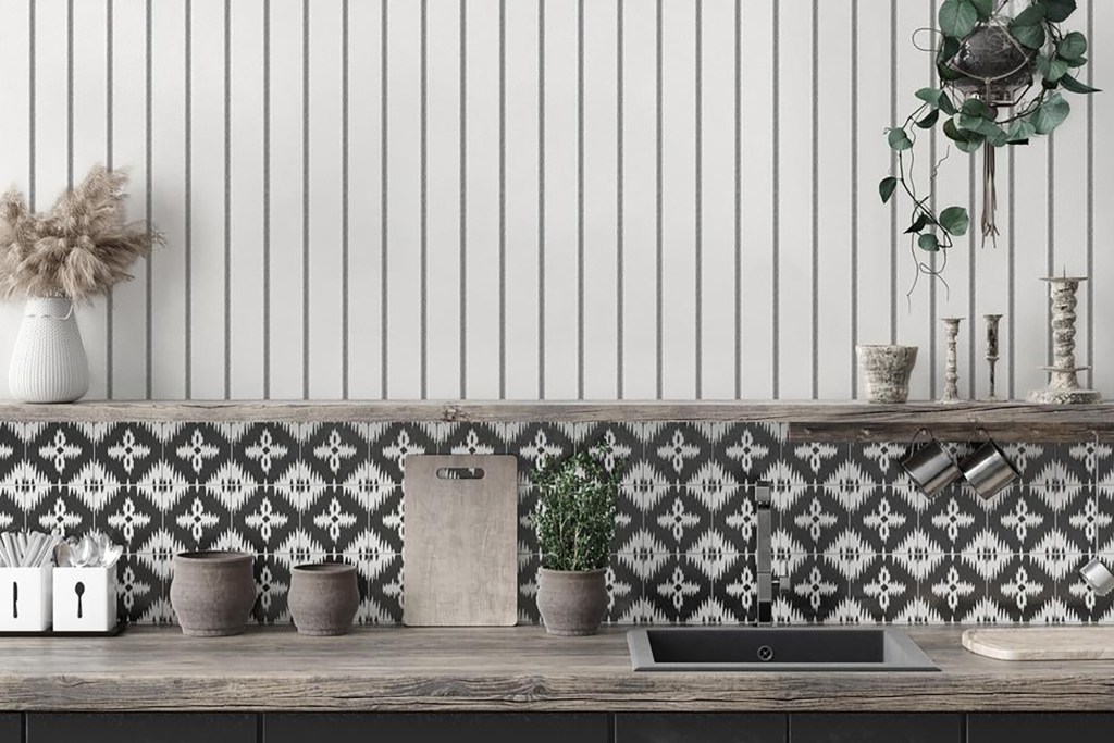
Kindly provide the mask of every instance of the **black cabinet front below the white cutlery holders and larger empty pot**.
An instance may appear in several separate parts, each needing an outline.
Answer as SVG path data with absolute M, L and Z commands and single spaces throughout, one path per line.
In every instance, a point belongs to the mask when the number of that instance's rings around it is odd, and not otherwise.
M 33 713 L 26 743 L 255 743 L 255 727 L 253 714 Z

